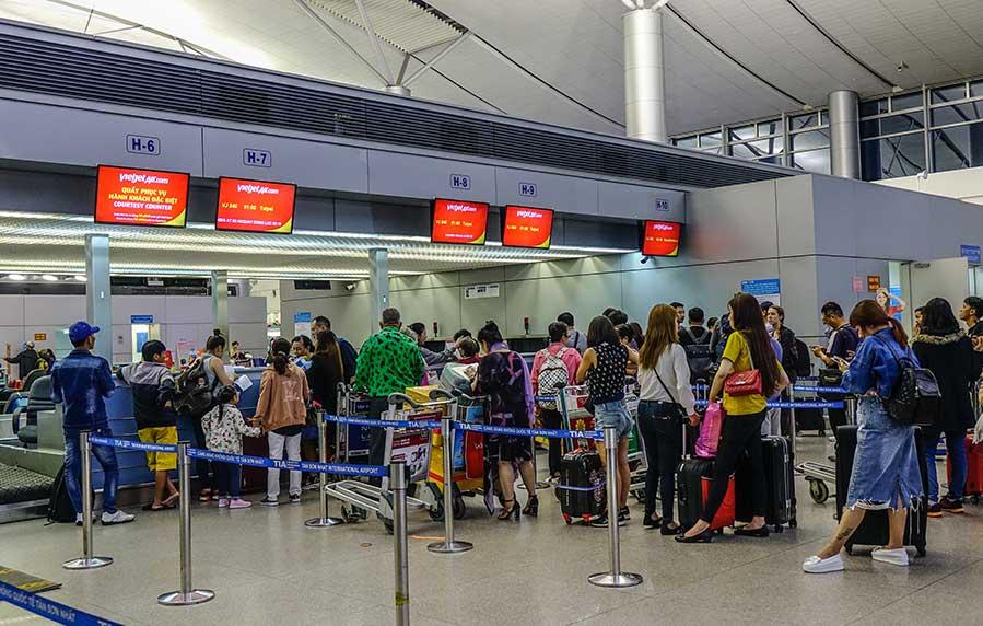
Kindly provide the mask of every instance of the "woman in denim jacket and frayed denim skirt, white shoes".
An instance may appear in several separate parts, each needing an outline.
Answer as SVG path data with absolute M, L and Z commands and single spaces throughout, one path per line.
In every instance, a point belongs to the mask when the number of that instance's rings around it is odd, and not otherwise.
M 875 560 L 898 566 L 908 565 L 904 549 L 904 522 L 908 508 L 923 495 L 922 477 L 915 450 L 914 427 L 896 421 L 888 415 L 883 398 L 891 395 L 901 375 L 898 359 L 917 359 L 908 347 L 901 324 L 888 317 L 873 300 L 858 303 L 850 314 L 850 325 L 857 329 L 862 343 L 851 363 L 836 359 L 843 371 L 843 384 L 857 403 L 857 447 L 850 477 L 846 506 L 840 525 L 822 550 L 803 563 L 808 573 L 841 571 L 840 550 L 864 520 L 867 511 L 888 511 L 888 545 L 875 548 Z

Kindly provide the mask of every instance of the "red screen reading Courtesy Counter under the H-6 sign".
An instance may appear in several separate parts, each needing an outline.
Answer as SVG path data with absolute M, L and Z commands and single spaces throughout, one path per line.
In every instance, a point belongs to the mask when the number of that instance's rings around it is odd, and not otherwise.
M 183 228 L 188 215 L 188 181 L 179 172 L 100 165 L 95 221 L 101 224 Z

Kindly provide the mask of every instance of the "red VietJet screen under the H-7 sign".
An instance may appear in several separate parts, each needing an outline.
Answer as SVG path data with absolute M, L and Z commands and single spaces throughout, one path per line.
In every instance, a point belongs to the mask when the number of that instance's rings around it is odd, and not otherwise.
M 290 234 L 296 189 L 290 183 L 220 178 L 215 230 Z

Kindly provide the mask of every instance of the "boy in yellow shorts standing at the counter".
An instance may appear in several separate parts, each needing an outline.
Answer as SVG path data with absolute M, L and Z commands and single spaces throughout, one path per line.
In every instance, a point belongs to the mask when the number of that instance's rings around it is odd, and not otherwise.
M 177 444 L 177 416 L 173 410 L 174 375 L 164 363 L 167 348 L 163 341 L 151 339 L 143 344 L 143 360 L 130 363 L 116 372 L 133 396 L 133 417 L 137 437 L 144 443 Z M 168 452 L 148 452 L 147 466 L 154 475 L 153 502 L 144 511 L 173 509 L 180 497 L 171 472 L 177 468 L 177 457 Z

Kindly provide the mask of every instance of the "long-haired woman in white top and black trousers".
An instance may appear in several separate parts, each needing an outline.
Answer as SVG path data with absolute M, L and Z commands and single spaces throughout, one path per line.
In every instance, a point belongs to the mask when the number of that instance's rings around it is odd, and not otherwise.
M 645 521 L 663 535 L 675 535 L 679 524 L 672 520 L 676 498 L 676 468 L 682 457 L 682 420 L 699 424 L 695 398 L 690 387 L 690 367 L 679 345 L 676 310 L 656 304 L 648 312 L 648 329 L 639 352 L 639 432 L 645 441 L 648 471 L 645 474 Z M 662 491 L 663 514 L 655 512 L 656 487 Z

